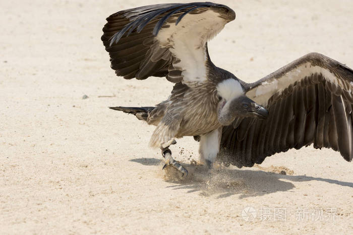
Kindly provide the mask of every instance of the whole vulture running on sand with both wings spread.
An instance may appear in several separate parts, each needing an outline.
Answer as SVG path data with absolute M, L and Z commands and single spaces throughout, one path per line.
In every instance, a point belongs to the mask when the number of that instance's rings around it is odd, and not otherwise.
M 156 106 L 110 108 L 155 125 L 150 146 L 161 148 L 164 167 L 183 176 L 188 171 L 169 149 L 183 136 L 200 142 L 200 161 L 209 168 L 216 159 L 252 167 L 266 156 L 311 144 L 339 151 L 350 162 L 353 70 L 310 53 L 245 83 L 214 65 L 207 49 L 235 18 L 229 7 L 209 2 L 150 5 L 106 18 L 101 40 L 116 75 L 174 83 Z

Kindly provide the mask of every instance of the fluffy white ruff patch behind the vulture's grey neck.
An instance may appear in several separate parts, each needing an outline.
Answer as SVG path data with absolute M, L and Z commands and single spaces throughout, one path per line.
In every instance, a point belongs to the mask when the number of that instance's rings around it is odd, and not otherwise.
M 226 101 L 244 95 L 242 85 L 235 79 L 227 79 L 217 85 L 218 95 Z

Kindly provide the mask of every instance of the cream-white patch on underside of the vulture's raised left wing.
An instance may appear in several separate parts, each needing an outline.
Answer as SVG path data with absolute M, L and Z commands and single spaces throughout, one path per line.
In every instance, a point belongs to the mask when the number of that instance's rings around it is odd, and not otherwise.
M 183 83 L 198 83 L 207 80 L 205 44 L 218 34 L 226 24 L 218 13 L 207 10 L 201 14 L 188 14 L 178 25 L 170 23 L 157 35 L 161 47 L 180 61 L 173 66 L 182 70 Z

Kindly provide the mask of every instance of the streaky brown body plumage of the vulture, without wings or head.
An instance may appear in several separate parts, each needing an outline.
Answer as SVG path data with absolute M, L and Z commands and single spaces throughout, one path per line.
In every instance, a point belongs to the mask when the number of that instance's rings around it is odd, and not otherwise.
M 147 123 L 157 126 L 150 146 L 159 147 L 173 137 L 206 134 L 222 126 L 217 115 L 220 101 L 217 85 L 225 77 L 236 78 L 230 72 L 216 67 L 210 60 L 207 68 L 210 80 L 195 84 L 192 88 L 182 83 L 175 84 L 168 100 L 158 104 L 148 114 Z

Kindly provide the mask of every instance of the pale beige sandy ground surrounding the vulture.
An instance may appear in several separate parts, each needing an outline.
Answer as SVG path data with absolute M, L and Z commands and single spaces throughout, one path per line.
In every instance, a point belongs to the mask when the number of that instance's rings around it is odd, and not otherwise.
M 246 82 L 308 52 L 353 67 L 352 1 L 218 2 L 237 19 L 211 58 Z M 0 2 L 0 233 L 352 233 L 353 165 L 329 149 L 208 173 L 186 137 L 172 150 L 188 179 L 162 172 L 154 127 L 106 107 L 151 106 L 172 85 L 116 77 L 100 41 L 108 15 L 150 3 Z

